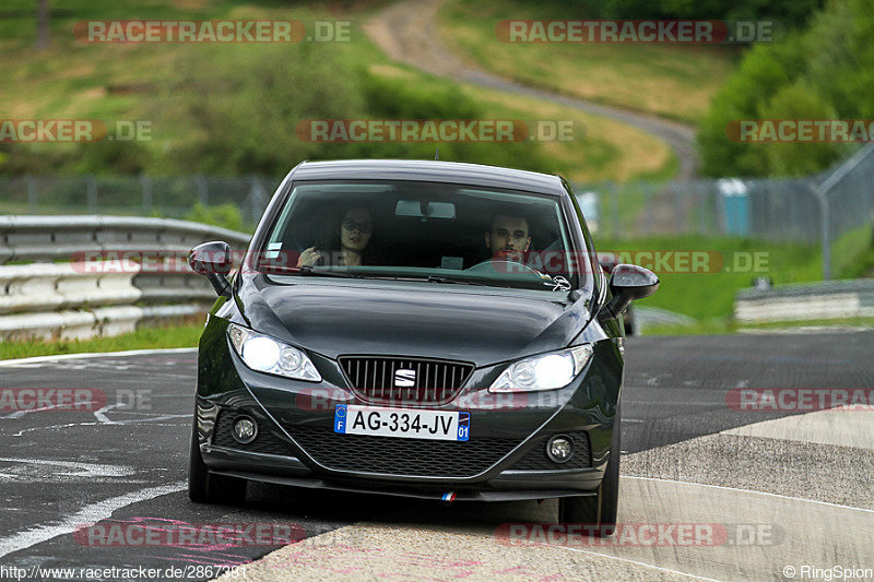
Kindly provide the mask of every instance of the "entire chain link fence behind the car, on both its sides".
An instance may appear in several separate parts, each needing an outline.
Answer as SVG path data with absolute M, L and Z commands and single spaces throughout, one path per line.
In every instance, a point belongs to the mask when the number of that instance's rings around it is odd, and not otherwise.
M 191 207 L 233 204 L 245 226 L 258 223 L 281 178 L 0 177 L 0 214 L 106 214 L 185 217 Z M 578 183 L 587 221 L 612 240 L 659 235 L 739 236 L 819 244 L 824 277 L 830 247 L 871 228 L 874 144 L 836 168 L 793 179 Z M 869 235 L 870 236 L 870 235 Z

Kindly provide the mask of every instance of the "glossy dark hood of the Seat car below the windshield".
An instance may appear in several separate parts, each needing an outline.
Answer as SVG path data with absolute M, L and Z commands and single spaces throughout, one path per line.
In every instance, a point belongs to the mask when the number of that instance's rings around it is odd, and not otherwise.
M 590 318 L 567 295 L 435 283 L 245 277 L 237 305 L 260 332 L 330 358 L 421 356 L 496 364 L 562 348 Z M 284 283 L 284 282 L 283 282 Z

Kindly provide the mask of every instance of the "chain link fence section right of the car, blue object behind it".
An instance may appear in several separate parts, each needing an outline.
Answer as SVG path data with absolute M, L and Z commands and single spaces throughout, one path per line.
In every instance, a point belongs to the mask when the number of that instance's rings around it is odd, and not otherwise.
M 575 191 L 601 237 L 698 234 L 818 244 L 828 280 L 836 240 L 857 231 L 872 240 L 874 144 L 803 178 L 601 182 L 575 185 Z

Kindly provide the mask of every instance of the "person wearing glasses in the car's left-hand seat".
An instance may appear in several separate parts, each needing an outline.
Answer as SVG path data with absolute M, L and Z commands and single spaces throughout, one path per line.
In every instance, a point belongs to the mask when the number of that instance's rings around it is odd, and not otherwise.
M 331 229 L 328 242 L 316 245 L 302 252 L 297 266 L 367 264 L 365 251 L 373 231 L 374 221 L 370 211 L 365 207 L 350 209 L 340 224 Z

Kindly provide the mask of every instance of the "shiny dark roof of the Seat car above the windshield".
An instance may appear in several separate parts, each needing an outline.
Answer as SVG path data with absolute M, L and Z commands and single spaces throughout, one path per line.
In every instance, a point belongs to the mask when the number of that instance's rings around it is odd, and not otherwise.
M 521 169 L 440 162 L 434 159 L 338 159 L 304 162 L 292 170 L 297 180 L 422 180 L 507 188 L 563 195 L 565 189 L 557 175 Z

